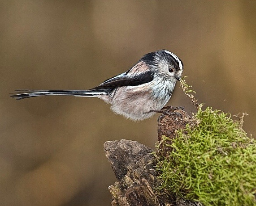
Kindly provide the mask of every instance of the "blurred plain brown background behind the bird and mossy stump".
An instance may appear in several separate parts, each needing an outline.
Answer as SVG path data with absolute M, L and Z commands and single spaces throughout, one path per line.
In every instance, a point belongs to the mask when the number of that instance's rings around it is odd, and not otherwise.
M 159 49 L 200 102 L 247 112 L 256 135 L 256 1 L 0 1 L 0 205 L 109 206 L 103 143 L 154 147 L 157 117 L 131 122 L 96 98 L 15 101 L 14 89 L 88 89 Z M 195 112 L 179 84 L 168 105 Z

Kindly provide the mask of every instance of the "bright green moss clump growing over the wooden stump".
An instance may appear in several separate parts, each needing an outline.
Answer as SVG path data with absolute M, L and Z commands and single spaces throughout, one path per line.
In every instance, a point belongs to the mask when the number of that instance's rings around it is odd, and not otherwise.
M 255 139 L 241 121 L 211 108 L 199 108 L 193 119 L 160 143 L 168 155 L 158 159 L 159 189 L 205 206 L 256 206 Z

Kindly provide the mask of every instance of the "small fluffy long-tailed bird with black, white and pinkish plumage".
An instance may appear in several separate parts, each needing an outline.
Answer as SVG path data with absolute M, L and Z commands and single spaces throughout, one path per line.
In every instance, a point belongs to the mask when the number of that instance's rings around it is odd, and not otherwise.
M 98 97 L 111 105 L 114 113 L 133 121 L 161 112 L 183 72 L 182 60 L 168 50 L 144 55 L 124 73 L 88 90 L 15 90 L 17 100 L 47 95 Z

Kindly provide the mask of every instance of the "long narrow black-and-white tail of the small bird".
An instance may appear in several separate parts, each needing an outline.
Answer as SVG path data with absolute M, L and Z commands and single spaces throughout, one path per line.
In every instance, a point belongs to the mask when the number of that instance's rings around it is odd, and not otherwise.
M 30 98 L 30 97 L 39 97 L 46 95 L 68 95 L 75 97 L 94 97 L 95 95 L 108 94 L 107 89 L 91 89 L 91 90 L 15 90 L 14 93 L 11 93 L 11 97 L 16 98 L 17 100 Z

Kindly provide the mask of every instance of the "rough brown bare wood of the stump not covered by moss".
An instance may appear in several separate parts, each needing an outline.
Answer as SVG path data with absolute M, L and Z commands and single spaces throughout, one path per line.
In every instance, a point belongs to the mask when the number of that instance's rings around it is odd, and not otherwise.
M 158 141 L 162 135 L 175 138 L 175 130 L 191 122 L 183 110 L 167 110 L 158 119 Z M 202 206 L 200 202 L 159 195 L 154 191 L 160 182 L 151 148 L 122 139 L 104 143 L 104 151 L 117 177 L 117 182 L 108 188 L 113 197 L 112 206 Z M 164 148 L 159 152 L 165 155 Z

